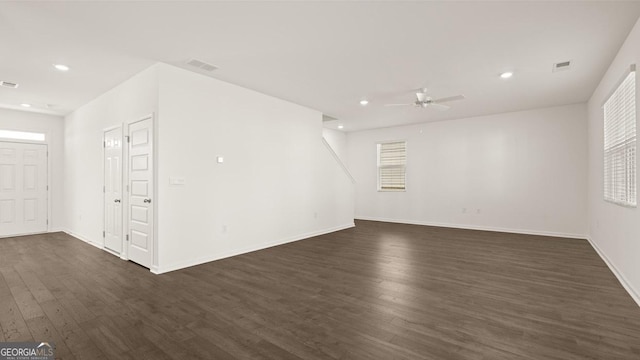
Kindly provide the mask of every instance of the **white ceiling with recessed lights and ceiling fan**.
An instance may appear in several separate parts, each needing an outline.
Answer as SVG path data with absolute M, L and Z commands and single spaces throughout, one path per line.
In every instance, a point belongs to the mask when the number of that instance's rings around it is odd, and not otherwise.
M 0 88 L 0 107 L 64 115 L 151 64 L 191 58 L 345 131 L 578 103 L 638 16 L 637 1 L 0 2 L 0 80 L 20 84 Z M 551 72 L 565 60 L 570 70 Z M 467 99 L 445 112 L 383 106 L 420 87 Z

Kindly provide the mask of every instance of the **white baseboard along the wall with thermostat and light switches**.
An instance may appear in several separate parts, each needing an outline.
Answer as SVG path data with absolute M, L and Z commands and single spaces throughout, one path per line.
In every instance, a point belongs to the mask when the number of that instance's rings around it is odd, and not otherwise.
M 190 261 L 184 261 L 184 262 L 172 264 L 172 265 L 169 265 L 169 266 L 153 267 L 151 269 L 151 272 L 154 273 L 154 274 L 164 274 L 164 273 L 167 273 L 167 272 L 170 272 L 170 271 L 180 270 L 180 269 L 184 269 L 184 268 L 188 268 L 188 267 L 191 267 L 191 266 L 196 266 L 196 265 L 208 263 L 208 262 L 215 261 L 215 260 L 221 260 L 221 259 L 225 259 L 225 258 L 228 258 L 228 257 L 236 256 L 236 255 L 246 254 L 246 253 L 250 253 L 250 252 L 253 252 L 253 251 L 257 251 L 257 250 L 267 249 L 267 248 L 270 248 L 270 247 L 273 247 L 273 246 L 283 245 L 283 244 L 294 242 L 294 241 L 308 239 L 308 238 L 311 238 L 311 237 L 314 237 L 314 236 L 324 235 L 324 234 L 332 233 L 332 232 L 335 232 L 335 231 L 340 231 L 340 230 L 352 228 L 354 226 L 355 226 L 354 223 L 335 226 L 335 227 L 331 227 L 331 228 L 327 228 L 327 229 L 323 229 L 323 230 L 319 230 L 319 231 L 313 231 L 313 232 L 309 232 L 309 233 L 305 233 L 305 234 L 301 234 L 301 235 L 292 236 L 292 237 L 285 238 L 285 239 L 271 241 L 271 242 L 268 242 L 268 243 L 262 243 L 262 244 L 258 244 L 258 245 L 255 245 L 255 246 L 248 246 L 248 247 L 245 247 L 245 248 L 242 248 L 242 249 L 235 249 L 235 250 L 227 251 L 227 252 L 224 252 L 224 253 L 217 253 L 217 254 L 212 254 L 212 255 L 208 255 L 208 256 L 203 256 L 203 257 L 198 258 L 198 259 L 193 259 L 193 260 L 190 260 Z

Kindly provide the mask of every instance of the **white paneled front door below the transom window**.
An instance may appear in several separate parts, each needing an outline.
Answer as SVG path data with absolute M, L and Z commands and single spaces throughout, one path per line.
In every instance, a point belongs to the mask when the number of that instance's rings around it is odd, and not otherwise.
M 47 231 L 47 145 L 0 142 L 0 236 Z

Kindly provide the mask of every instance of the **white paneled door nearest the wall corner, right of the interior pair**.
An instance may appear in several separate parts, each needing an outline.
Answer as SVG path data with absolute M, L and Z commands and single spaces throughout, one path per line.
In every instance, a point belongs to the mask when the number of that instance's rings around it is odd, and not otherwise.
M 153 259 L 153 123 L 129 125 L 129 260 L 151 267 Z

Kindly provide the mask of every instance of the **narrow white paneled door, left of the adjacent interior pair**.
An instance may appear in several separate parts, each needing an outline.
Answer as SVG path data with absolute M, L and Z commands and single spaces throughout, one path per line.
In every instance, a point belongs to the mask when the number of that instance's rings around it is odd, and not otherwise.
M 122 128 L 104 133 L 104 246 L 122 252 Z

